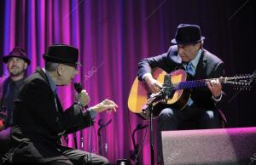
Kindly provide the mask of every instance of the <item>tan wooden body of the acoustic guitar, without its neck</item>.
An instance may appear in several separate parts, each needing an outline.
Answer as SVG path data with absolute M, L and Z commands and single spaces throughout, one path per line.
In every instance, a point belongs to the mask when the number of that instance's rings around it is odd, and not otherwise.
M 164 83 L 164 77 L 166 72 L 160 68 L 155 68 L 152 72 L 154 79 L 160 83 Z M 173 71 L 171 74 L 172 83 L 185 82 L 187 74 L 183 70 Z M 131 92 L 128 99 L 128 107 L 130 111 L 137 113 L 143 119 L 149 119 L 149 111 L 146 107 L 150 93 L 148 93 L 147 85 L 138 80 L 136 77 L 131 87 Z M 160 114 L 162 108 L 167 105 L 182 110 L 188 103 L 190 97 L 189 89 L 176 90 L 171 99 L 168 99 L 166 103 L 159 102 L 153 105 L 153 116 L 157 117 Z

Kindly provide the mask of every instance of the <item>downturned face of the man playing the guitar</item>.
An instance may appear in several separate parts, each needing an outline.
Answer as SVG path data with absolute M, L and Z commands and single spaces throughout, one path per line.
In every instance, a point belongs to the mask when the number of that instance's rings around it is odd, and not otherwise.
M 201 43 L 177 44 L 177 54 L 179 54 L 183 61 L 189 62 L 195 58 L 200 47 Z

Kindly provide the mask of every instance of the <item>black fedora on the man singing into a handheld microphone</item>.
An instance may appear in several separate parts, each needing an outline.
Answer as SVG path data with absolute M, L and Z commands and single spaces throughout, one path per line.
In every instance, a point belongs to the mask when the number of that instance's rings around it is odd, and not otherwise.
M 79 64 L 79 49 L 66 44 L 54 44 L 47 48 L 43 58 L 55 63 Z

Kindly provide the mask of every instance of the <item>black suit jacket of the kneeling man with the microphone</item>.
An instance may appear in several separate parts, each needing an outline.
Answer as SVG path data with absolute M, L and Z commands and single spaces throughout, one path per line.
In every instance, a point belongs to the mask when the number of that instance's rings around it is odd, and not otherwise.
M 11 138 L 15 143 L 30 141 L 55 144 L 62 133 L 72 133 L 90 125 L 90 112 L 82 112 L 80 105 L 73 104 L 63 111 L 44 71 L 38 68 L 26 78 L 15 101 L 14 126 Z

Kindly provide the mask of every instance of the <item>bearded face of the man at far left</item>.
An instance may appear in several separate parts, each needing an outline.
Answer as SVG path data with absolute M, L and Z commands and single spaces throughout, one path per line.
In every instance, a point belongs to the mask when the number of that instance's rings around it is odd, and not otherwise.
M 27 63 L 25 60 L 20 59 L 18 57 L 11 57 L 7 62 L 7 68 L 9 71 L 10 76 L 16 77 L 20 76 L 21 74 L 26 71 Z

